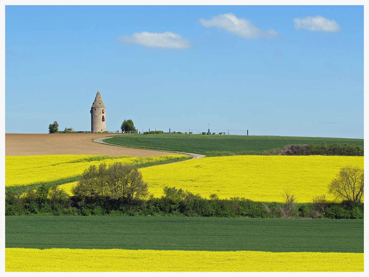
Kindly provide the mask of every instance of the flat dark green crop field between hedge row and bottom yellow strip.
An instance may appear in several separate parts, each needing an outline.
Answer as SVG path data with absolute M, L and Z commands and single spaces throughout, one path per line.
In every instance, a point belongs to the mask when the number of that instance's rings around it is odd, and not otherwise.
M 6 216 L 5 247 L 363 253 L 361 219 Z

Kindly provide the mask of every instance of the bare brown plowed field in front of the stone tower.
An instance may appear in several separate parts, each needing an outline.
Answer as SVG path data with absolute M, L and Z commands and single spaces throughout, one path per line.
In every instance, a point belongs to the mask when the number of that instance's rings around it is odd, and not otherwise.
M 151 155 L 177 154 L 163 151 L 134 149 L 104 145 L 92 139 L 111 137 L 116 134 L 5 134 L 5 155 Z M 178 154 L 180 155 L 180 154 Z

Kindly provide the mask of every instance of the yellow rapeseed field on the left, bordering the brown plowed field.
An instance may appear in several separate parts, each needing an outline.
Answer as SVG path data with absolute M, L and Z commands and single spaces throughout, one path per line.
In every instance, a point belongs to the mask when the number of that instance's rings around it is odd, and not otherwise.
M 148 157 L 99 155 L 37 155 L 6 156 L 5 187 L 24 186 L 77 176 L 90 165 L 111 164 L 116 161 L 139 165 L 149 162 L 183 158 L 186 155 L 161 155 Z

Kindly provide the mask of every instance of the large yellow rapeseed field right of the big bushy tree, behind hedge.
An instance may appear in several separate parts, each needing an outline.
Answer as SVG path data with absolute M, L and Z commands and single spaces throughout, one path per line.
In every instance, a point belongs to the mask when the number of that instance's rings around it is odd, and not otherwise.
M 163 195 L 163 187 L 176 187 L 208 198 L 244 197 L 253 201 L 284 202 L 285 189 L 297 202 L 312 202 L 325 194 L 328 184 L 346 165 L 364 167 L 364 157 L 347 156 L 225 156 L 142 168 L 150 193 Z

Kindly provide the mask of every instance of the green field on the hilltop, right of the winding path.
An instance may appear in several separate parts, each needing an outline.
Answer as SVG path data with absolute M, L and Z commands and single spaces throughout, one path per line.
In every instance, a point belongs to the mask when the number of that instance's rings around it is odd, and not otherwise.
M 104 140 L 122 146 L 180 151 L 187 153 L 263 151 L 289 144 L 347 143 L 364 146 L 358 138 L 235 136 L 200 134 L 124 134 Z

